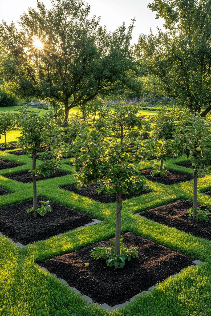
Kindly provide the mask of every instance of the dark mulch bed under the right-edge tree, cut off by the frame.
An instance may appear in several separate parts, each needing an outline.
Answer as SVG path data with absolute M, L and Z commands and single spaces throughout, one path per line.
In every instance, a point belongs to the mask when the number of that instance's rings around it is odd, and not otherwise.
M 149 218 L 160 224 L 175 227 L 183 230 L 185 233 L 192 234 L 198 237 L 211 240 L 211 214 L 209 215 L 210 221 L 196 221 L 193 219 L 188 220 L 188 210 L 193 206 L 192 201 L 181 200 L 170 204 L 158 206 L 151 210 L 140 212 L 140 216 Z M 210 210 L 207 205 L 197 204 L 202 210 Z M 171 216 L 169 216 L 171 214 Z

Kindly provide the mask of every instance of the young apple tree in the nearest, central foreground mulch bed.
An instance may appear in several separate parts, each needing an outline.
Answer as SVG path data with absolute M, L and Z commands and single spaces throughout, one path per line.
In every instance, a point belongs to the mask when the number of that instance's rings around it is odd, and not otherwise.
M 136 194 L 145 186 L 145 178 L 130 163 L 146 159 L 150 145 L 140 138 L 135 139 L 129 132 L 120 142 L 117 138 L 109 141 L 112 135 L 106 128 L 100 131 L 87 127 L 81 132 L 74 143 L 76 159 L 77 187 L 98 184 L 97 191 L 116 195 L 116 233 L 115 255 L 121 254 L 121 209 L 122 194 Z M 133 143 L 133 147 L 130 145 Z

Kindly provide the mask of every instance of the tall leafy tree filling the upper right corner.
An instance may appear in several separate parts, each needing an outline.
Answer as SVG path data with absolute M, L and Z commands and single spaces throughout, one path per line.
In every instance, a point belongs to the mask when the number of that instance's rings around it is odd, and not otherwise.
M 168 96 L 204 117 L 211 110 L 211 1 L 155 0 L 149 8 L 164 18 L 165 32 L 141 34 L 138 57 Z

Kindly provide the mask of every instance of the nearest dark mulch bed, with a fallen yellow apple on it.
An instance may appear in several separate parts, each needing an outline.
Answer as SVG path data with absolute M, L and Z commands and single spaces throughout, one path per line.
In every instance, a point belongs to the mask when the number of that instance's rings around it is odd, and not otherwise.
M 139 258 L 126 260 L 123 269 L 108 267 L 105 259 L 90 257 L 90 250 L 94 246 L 109 245 L 114 238 L 38 264 L 90 296 L 93 301 L 114 306 L 129 301 L 134 295 L 180 272 L 194 260 L 135 234 L 126 233 L 122 237 L 127 247 L 137 246 L 139 254 Z M 86 262 L 89 262 L 89 267 L 85 267 Z

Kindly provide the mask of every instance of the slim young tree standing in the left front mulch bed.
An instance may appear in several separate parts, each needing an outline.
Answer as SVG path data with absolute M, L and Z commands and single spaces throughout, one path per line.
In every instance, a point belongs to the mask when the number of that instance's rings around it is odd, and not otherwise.
M 59 166 L 61 154 L 62 132 L 53 119 L 52 113 L 27 112 L 22 107 L 19 114 L 19 127 L 22 136 L 18 137 L 18 144 L 26 153 L 32 155 L 33 179 L 33 210 L 37 217 L 37 185 L 39 174 L 49 177 L 50 172 Z M 41 163 L 36 166 L 36 160 Z

